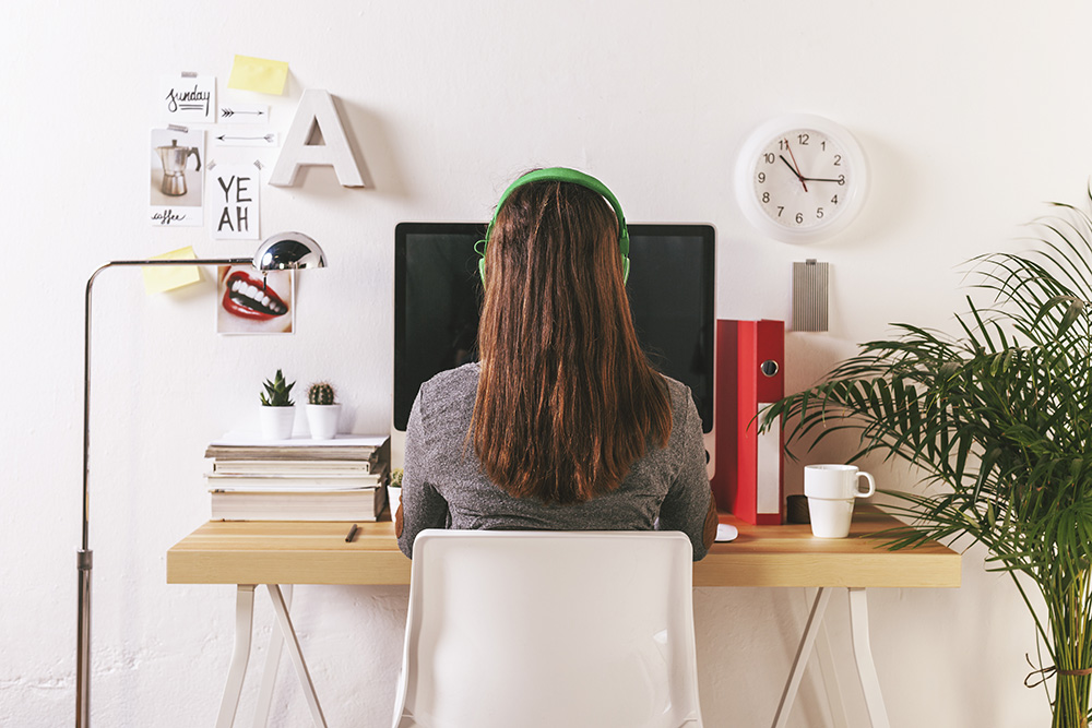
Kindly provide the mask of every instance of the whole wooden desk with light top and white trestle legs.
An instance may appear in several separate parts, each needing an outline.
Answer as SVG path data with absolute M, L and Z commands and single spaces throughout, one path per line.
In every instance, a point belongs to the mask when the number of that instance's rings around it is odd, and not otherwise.
M 873 534 L 899 526 L 875 506 L 857 505 L 850 538 L 820 539 L 810 526 L 751 526 L 731 515 L 722 522 L 739 529 L 728 544 L 715 544 L 693 565 L 695 586 L 810 586 L 818 593 L 774 717 L 785 725 L 803 678 L 804 667 L 820 634 L 830 599 L 829 587 L 846 587 L 854 655 L 874 728 L 888 724 L 876 668 L 868 644 L 867 587 L 956 587 L 960 585 L 960 557 L 939 544 L 918 549 L 888 551 Z M 236 584 L 236 648 L 217 726 L 234 723 L 250 652 L 254 585 L 266 584 L 286 637 L 316 725 L 324 726 L 318 699 L 288 616 L 280 585 L 292 584 L 408 584 L 410 560 L 399 551 L 391 522 L 360 524 L 352 544 L 345 541 L 348 523 L 272 523 L 211 521 L 167 551 L 169 584 Z M 270 649 L 260 711 L 268 709 L 272 691 L 270 673 L 280 659 L 280 643 Z M 270 669 L 272 666 L 272 669 Z M 266 685 L 269 681 L 269 685 Z M 265 706 L 262 707 L 263 699 Z M 259 715 L 263 725 L 264 714 Z

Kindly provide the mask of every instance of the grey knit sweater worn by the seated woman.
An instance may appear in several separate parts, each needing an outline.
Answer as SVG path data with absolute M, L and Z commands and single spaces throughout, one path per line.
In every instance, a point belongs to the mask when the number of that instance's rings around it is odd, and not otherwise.
M 399 548 L 413 556 L 425 528 L 543 530 L 681 530 L 697 561 L 705 556 L 702 526 L 709 509 L 701 419 L 686 385 L 670 378 L 672 434 L 646 452 L 616 490 L 583 503 L 546 505 L 512 498 L 483 473 L 466 440 L 479 365 L 441 372 L 422 385 L 406 429 Z M 658 524 L 657 520 L 658 518 Z

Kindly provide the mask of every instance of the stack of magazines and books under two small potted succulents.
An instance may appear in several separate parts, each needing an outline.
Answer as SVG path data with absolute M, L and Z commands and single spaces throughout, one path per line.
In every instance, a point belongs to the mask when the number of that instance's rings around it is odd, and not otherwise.
M 262 442 L 225 435 L 205 450 L 213 521 L 376 521 L 387 502 L 390 439 Z

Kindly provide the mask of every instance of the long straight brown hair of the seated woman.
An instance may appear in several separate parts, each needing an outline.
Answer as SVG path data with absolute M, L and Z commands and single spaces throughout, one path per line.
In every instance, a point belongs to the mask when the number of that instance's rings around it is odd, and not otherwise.
M 575 503 L 617 488 L 672 430 L 666 383 L 637 341 L 618 218 L 571 182 L 517 188 L 486 249 L 474 450 L 517 498 Z

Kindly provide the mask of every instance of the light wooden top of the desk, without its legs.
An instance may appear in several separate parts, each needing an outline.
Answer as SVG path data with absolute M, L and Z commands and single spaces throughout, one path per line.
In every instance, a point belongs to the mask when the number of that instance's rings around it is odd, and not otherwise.
M 693 565 L 695 586 L 960 585 L 960 557 L 940 544 L 889 551 L 871 536 L 901 524 L 858 505 L 848 538 L 815 538 L 808 525 L 721 521 L 739 537 L 714 544 Z M 351 523 L 210 521 L 167 551 L 170 584 L 408 584 L 410 559 L 390 521 Z

